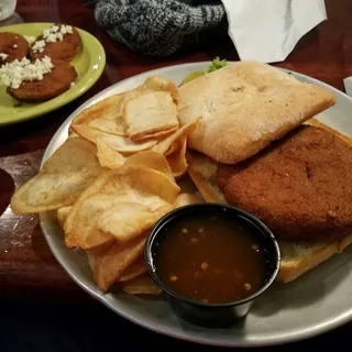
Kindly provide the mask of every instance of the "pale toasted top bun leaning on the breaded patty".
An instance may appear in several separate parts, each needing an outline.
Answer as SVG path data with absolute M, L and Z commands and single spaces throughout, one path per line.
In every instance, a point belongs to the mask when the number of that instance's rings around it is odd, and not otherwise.
M 334 105 L 331 92 L 266 64 L 239 62 L 179 88 L 182 124 L 201 119 L 188 145 L 235 164 Z

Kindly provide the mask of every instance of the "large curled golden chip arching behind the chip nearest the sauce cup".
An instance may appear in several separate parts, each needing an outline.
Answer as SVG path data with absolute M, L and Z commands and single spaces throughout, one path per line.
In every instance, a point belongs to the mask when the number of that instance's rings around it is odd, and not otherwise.
M 88 187 L 74 205 L 65 222 L 67 246 L 90 249 L 112 238 L 99 231 L 102 212 L 119 202 L 138 202 L 155 211 L 173 204 L 179 187 L 161 172 L 141 165 L 123 165 L 106 172 Z

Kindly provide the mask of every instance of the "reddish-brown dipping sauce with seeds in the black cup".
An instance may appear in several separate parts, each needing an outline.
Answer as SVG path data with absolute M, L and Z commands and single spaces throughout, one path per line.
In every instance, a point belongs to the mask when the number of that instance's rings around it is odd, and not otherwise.
M 267 280 L 261 230 L 240 217 L 186 216 L 163 231 L 153 255 L 156 274 L 186 298 L 231 302 L 253 295 Z

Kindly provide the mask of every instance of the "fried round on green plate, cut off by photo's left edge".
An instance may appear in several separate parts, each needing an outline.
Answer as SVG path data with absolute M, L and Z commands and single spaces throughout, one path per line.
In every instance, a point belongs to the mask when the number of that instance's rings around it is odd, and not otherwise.
M 0 65 L 21 59 L 29 54 L 30 46 L 28 41 L 20 34 L 12 32 L 0 33 Z

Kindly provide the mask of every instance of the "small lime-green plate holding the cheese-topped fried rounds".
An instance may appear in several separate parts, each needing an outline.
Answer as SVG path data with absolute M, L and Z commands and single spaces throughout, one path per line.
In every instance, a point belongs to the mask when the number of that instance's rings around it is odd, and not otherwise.
M 22 23 L 0 28 L 0 32 L 14 32 L 22 35 L 40 35 L 53 23 Z M 101 76 L 106 66 L 106 53 L 100 42 L 91 34 L 77 29 L 81 37 L 81 48 L 72 61 L 78 77 L 75 86 L 58 97 L 37 103 L 19 105 L 6 92 L 0 84 L 0 125 L 18 123 L 53 111 L 73 101 L 87 91 Z

